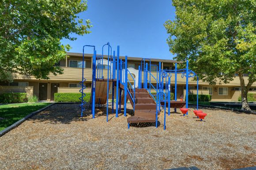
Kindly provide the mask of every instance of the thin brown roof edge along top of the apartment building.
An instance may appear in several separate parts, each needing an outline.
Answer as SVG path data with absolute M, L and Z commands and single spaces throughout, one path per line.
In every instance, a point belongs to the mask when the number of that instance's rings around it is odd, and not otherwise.
M 83 57 L 83 53 L 71 53 L 71 52 L 67 52 L 67 55 L 69 56 L 77 56 L 77 57 Z M 101 55 L 101 54 L 97 54 L 97 55 Z M 92 57 L 93 54 L 84 54 L 85 57 Z M 108 58 L 107 55 L 103 55 L 103 58 Z M 124 56 L 120 56 L 120 59 L 125 59 Z M 133 60 L 133 61 L 141 61 L 142 58 L 139 57 L 127 57 L 128 60 Z M 158 58 L 150 58 L 151 61 L 154 62 L 167 62 L 167 63 L 182 63 L 180 61 L 176 61 L 176 60 L 163 60 L 163 59 L 158 59 Z

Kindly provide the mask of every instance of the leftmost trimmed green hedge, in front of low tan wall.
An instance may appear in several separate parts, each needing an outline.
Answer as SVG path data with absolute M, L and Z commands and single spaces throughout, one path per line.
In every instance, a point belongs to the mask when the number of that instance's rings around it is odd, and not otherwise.
M 26 93 L 0 94 L 0 103 L 24 103 L 27 102 Z

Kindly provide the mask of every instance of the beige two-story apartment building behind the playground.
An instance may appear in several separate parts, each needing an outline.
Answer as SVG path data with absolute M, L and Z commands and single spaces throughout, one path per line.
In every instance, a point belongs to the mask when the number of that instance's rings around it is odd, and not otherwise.
M 0 82 L 0 93 L 6 92 L 26 92 L 28 95 L 36 95 L 41 101 L 53 101 L 54 93 L 79 93 L 81 86 L 79 82 L 82 79 L 82 57 L 81 53 L 67 53 L 64 60 L 61 60 L 56 65 L 59 65 L 64 69 L 64 73 L 61 75 L 54 76 L 50 74 L 49 80 L 38 80 L 34 76 L 14 74 L 13 83 Z M 91 81 L 92 81 L 92 54 L 85 54 L 84 63 L 84 77 L 86 78 L 86 93 L 90 93 Z M 107 56 L 104 56 L 107 61 Z M 124 57 L 120 57 L 124 59 Z M 139 69 L 142 58 L 128 57 L 128 68 L 134 72 L 135 79 L 136 72 Z M 162 69 L 174 69 L 175 60 L 162 60 L 162 59 L 151 59 L 151 64 L 158 65 L 162 62 Z M 96 62 L 97 63 L 97 62 Z M 106 63 L 106 62 L 105 62 Z M 107 65 L 104 65 L 107 68 Z M 151 72 L 156 76 L 156 66 L 151 66 Z M 107 69 L 103 71 L 103 74 L 107 76 Z M 246 75 L 245 75 L 246 76 Z M 156 84 L 156 82 L 153 82 Z M 245 83 L 248 80 L 245 77 Z M 189 93 L 196 94 L 196 81 L 192 78 L 188 80 Z M 171 90 L 174 92 L 174 75 L 171 77 Z M 177 98 L 179 99 L 182 94 L 185 94 L 186 79 L 182 78 L 181 75 L 177 76 Z M 240 80 L 238 76 L 234 75 L 234 80 L 228 84 L 221 84 L 216 82 L 215 86 L 209 85 L 209 83 L 199 81 L 199 94 L 210 94 L 212 95 L 212 101 L 237 101 L 241 95 Z M 256 93 L 256 83 L 252 84 L 250 89 L 252 93 Z M 112 91 L 110 91 L 111 98 Z

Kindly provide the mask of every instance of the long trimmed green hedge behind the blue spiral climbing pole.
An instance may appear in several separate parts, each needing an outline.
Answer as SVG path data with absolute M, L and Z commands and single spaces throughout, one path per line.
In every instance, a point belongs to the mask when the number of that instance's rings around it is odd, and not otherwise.
M 55 102 L 79 102 L 81 93 L 55 93 L 54 101 Z M 90 93 L 86 93 L 86 96 L 83 98 L 85 102 L 90 101 Z

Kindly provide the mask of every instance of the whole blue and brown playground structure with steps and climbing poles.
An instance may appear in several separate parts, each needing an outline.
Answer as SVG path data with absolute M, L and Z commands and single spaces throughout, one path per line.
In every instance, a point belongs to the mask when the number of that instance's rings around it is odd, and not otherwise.
M 114 113 L 114 100 L 116 100 L 116 117 L 121 112 L 121 105 L 124 105 L 124 116 L 127 116 L 127 101 L 129 100 L 134 116 L 128 117 L 128 129 L 130 123 L 155 123 L 158 127 L 158 115 L 161 110 L 164 110 L 164 130 L 166 129 L 166 107 L 168 107 L 168 116 L 170 115 L 170 108 L 174 108 L 174 112 L 177 108 L 188 108 L 188 78 L 195 77 L 197 80 L 197 104 L 196 110 L 198 110 L 198 77 L 195 72 L 188 69 L 188 60 L 186 61 L 186 69 L 177 69 L 177 63 L 175 63 L 175 70 L 161 69 L 161 62 L 159 65 L 151 64 L 150 58 L 143 58 L 141 65 L 139 65 L 138 77 L 134 76 L 134 70 L 128 68 L 127 56 L 125 59 L 120 59 L 119 49 L 117 46 L 116 52 L 113 51 L 109 43 L 102 46 L 102 55 L 96 53 L 95 46 L 85 45 L 83 46 L 83 61 L 84 61 L 84 48 L 93 47 L 93 59 L 92 59 L 92 86 L 91 86 L 91 113 L 95 118 L 95 105 L 106 104 L 106 121 L 108 122 L 109 115 L 109 91 L 112 89 L 112 105 L 111 112 Z M 107 55 L 104 55 L 104 47 L 107 47 Z M 105 58 L 107 57 L 107 59 Z M 151 72 L 151 67 L 157 68 L 156 76 Z M 84 62 L 83 62 L 84 68 Z M 82 69 L 82 71 L 84 71 Z M 171 93 L 171 76 L 175 75 L 175 92 L 174 100 L 170 100 Z M 186 101 L 177 101 L 177 75 L 181 74 L 182 78 L 186 78 Z M 83 77 L 80 82 L 82 88 L 80 90 L 82 96 L 81 100 L 81 116 L 85 110 L 84 105 L 85 89 Z M 142 81 L 143 80 L 143 81 Z M 142 84 L 143 82 L 143 84 Z M 153 82 L 156 84 L 153 85 Z M 143 85 L 143 87 L 142 87 Z M 114 95 L 114 90 L 116 91 Z M 188 114 L 188 110 L 184 112 L 184 115 Z

